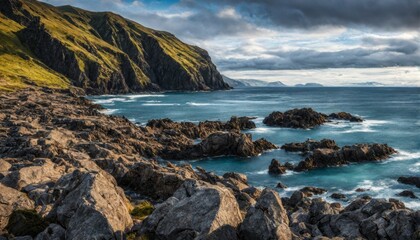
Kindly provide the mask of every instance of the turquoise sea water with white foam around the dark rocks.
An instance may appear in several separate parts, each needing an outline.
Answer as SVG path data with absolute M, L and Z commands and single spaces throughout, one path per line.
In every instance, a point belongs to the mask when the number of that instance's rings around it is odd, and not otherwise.
M 218 174 L 235 171 L 245 173 L 251 184 L 275 187 L 281 181 L 289 188 L 279 190 L 290 195 L 304 186 L 317 186 L 342 192 L 349 199 L 369 194 L 374 197 L 399 198 L 402 190 L 415 186 L 399 184 L 399 176 L 420 175 L 420 88 L 244 88 L 231 91 L 107 95 L 92 97 L 107 108 L 109 114 L 124 115 L 139 124 L 154 118 L 175 121 L 228 120 L 230 116 L 255 116 L 257 128 L 253 138 L 264 137 L 281 146 L 307 138 L 334 139 L 339 146 L 355 143 L 388 143 L 399 151 L 379 163 L 352 164 L 310 172 L 288 172 L 281 176 L 267 173 L 271 159 L 297 163 L 302 157 L 283 150 L 266 152 L 258 157 L 218 157 L 190 161 Z M 272 111 L 312 107 L 331 113 L 346 111 L 366 119 L 363 123 L 334 122 L 312 130 L 267 127 L 262 120 Z M 356 188 L 368 188 L 356 193 Z M 419 199 L 399 198 L 407 206 L 420 209 Z M 344 204 L 346 202 L 343 202 Z

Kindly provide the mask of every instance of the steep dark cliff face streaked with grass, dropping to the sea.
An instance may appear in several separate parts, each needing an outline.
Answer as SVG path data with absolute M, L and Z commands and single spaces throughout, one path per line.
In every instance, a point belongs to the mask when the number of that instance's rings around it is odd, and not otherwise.
M 205 50 L 113 13 L 0 0 L 0 14 L 25 53 L 88 93 L 229 88 Z

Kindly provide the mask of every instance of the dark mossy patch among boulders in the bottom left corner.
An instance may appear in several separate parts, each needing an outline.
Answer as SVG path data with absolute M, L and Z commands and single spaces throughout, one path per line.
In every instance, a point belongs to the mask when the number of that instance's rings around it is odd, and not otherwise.
M 13 236 L 35 237 L 48 225 L 49 223 L 35 210 L 15 210 L 9 218 L 6 229 Z

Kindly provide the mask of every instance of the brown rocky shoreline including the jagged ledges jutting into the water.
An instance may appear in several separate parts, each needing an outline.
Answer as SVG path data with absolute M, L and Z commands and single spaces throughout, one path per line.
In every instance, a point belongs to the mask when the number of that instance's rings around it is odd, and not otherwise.
M 241 132 L 255 127 L 250 118 L 199 124 L 160 119 L 137 126 L 100 113 L 101 107 L 83 95 L 77 88 L 0 95 L 0 234 L 5 238 L 420 238 L 420 211 L 395 199 L 364 197 L 343 207 L 318 198 L 325 190 L 314 187 L 281 198 L 249 185 L 240 173 L 218 176 L 157 161 L 255 156 L 277 148 Z M 394 152 L 386 145 L 339 148 L 331 140 L 284 148 L 308 154 L 312 167 L 328 166 L 321 164 L 326 158 L 373 161 Z M 335 157 L 319 155 L 320 149 Z M 413 176 L 399 181 L 419 187 Z

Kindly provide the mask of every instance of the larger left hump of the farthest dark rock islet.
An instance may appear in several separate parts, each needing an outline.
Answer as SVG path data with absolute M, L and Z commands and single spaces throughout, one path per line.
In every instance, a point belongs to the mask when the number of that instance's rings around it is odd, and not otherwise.
M 293 109 L 282 112 L 272 112 L 263 120 L 268 126 L 278 126 L 286 128 L 313 128 L 324 124 L 327 116 L 315 112 L 312 108 Z

